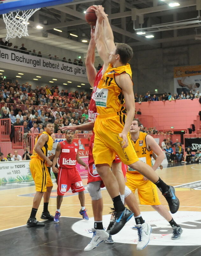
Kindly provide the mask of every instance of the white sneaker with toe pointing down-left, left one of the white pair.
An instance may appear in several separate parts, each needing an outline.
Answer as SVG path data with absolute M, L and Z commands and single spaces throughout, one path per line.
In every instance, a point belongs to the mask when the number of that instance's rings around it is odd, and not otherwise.
M 104 240 L 106 240 L 109 237 L 109 234 L 103 229 L 91 228 L 91 230 L 89 230 L 89 233 L 94 233 L 94 234 L 92 236 L 91 242 L 84 248 L 85 252 L 93 250 L 100 243 L 102 243 Z

